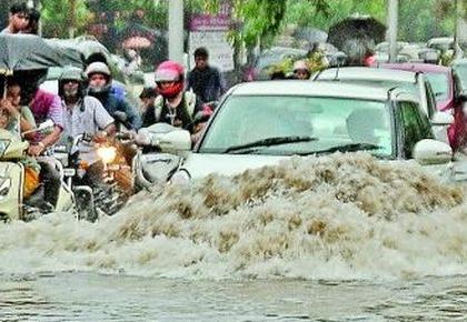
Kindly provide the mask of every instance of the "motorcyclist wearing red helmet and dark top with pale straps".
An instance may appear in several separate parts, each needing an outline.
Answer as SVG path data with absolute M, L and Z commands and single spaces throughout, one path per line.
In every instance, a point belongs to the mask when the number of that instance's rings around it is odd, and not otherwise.
M 185 90 L 185 69 L 175 61 L 165 61 L 156 69 L 159 95 L 155 102 L 155 119 L 193 133 L 195 114 L 201 105 L 195 93 Z

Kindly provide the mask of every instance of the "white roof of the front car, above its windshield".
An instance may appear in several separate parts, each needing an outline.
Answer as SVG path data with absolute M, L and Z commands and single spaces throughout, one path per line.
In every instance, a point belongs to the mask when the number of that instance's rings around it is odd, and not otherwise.
M 386 101 L 387 87 L 371 87 L 341 82 L 319 82 L 302 80 L 278 80 L 245 82 L 230 91 L 232 95 L 304 95 L 351 98 L 364 100 Z

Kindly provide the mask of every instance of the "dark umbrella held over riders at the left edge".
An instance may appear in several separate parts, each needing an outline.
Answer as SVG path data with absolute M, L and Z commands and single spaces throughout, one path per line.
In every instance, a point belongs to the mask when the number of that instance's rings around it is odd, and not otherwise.
M 31 71 L 53 66 L 80 66 L 79 57 L 63 54 L 33 34 L 0 34 L 0 73 Z

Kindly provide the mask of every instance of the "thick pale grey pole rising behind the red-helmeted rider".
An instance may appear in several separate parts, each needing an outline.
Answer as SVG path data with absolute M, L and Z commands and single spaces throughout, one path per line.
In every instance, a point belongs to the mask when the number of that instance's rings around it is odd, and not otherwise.
M 169 2 L 169 59 L 183 63 L 183 0 Z

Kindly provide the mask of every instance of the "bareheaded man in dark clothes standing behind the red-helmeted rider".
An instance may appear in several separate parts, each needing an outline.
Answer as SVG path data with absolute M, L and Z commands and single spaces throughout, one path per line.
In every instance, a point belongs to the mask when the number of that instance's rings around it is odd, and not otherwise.
M 195 68 L 188 74 L 188 88 L 201 102 L 218 101 L 226 91 L 222 76 L 217 68 L 209 66 L 209 52 L 200 47 L 195 50 Z

